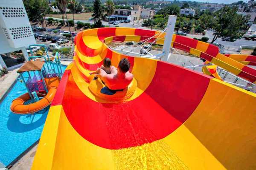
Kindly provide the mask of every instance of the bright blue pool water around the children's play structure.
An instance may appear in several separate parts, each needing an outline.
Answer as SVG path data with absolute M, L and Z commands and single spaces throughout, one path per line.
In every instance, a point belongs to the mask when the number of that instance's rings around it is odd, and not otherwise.
M 64 71 L 66 67 L 62 65 L 62 70 Z M 0 168 L 10 164 L 40 139 L 49 107 L 33 115 L 18 115 L 10 111 L 12 100 L 26 92 L 23 83 L 15 82 L 0 103 Z

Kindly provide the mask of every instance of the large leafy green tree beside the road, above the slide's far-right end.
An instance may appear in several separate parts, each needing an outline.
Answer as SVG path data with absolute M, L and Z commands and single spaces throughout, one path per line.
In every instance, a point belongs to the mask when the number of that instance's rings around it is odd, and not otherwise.
M 216 25 L 214 26 L 213 43 L 218 37 L 230 37 L 231 39 L 237 39 L 242 37 L 242 30 L 246 30 L 248 16 L 242 16 L 237 14 L 238 8 L 236 6 L 224 6 L 220 10 L 215 12 Z

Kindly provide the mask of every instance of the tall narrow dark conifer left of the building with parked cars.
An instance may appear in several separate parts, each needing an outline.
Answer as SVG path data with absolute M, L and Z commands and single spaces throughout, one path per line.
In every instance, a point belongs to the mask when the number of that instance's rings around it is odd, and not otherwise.
M 102 4 L 100 0 L 95 0 L 93 3 L 93 20 L 94 20 L 94 28 L 102 27 L 101 18 L 103 16 Z

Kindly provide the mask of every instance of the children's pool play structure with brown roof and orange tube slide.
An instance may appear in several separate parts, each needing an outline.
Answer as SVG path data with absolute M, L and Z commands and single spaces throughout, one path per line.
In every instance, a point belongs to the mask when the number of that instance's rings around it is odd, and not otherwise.
M 32 46 L 41 46 L 46 55 L 33 56 Z M 20 82 L 23 82 L 27 93 L 12 101 L 11 111 L 17 114 L 35 113 L 49 106 L 55 96 L 62 76 L 58 52 L 55 58 L 50 58 L 45 45 L 30 45 L 32 56 L 29 61 L 17 71 Z

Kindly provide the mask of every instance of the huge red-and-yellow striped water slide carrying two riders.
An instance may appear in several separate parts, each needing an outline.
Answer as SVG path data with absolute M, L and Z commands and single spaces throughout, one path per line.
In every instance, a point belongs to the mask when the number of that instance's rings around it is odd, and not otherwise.
M 256 94 L 155 59 L 129 57 L 110 42 L 157 34 L 96 28 L 77 34 L 74 61 L 52 101 L 32 170 L 244 170 L 256 163 Z M 157 44 L 163 44 L 163 37 Z M 150 41 L 154 41 L 152 38 Z M 178 35 L 172 46 L 255 82 L 255 70 L 218 48 Z M 137 87 L 125 101 L 95 96 L 89 73 L 128 58 Z

